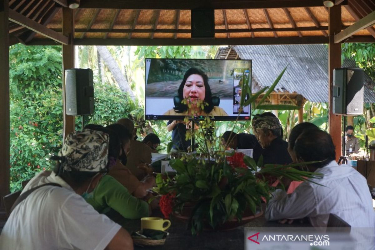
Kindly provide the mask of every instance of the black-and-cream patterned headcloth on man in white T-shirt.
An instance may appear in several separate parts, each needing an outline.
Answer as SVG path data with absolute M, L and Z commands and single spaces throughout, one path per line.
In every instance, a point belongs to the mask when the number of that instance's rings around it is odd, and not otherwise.
M 108 163 L 109 135 L 92 129 L 70 133 L 58 153 L 63 171 L 102 172 Z

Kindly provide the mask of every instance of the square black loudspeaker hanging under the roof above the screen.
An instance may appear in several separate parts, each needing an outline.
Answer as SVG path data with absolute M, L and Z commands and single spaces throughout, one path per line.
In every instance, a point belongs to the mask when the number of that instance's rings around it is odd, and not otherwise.
M 213 9 L 191 10 L 191 37 L 215 38 L 215 12 Z

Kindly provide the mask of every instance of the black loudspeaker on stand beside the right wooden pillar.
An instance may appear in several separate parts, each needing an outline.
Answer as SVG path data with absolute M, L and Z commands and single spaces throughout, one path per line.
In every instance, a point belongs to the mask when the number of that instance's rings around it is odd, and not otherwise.
M 363 69 L 333 70 L 333 114 L 363 114 Z

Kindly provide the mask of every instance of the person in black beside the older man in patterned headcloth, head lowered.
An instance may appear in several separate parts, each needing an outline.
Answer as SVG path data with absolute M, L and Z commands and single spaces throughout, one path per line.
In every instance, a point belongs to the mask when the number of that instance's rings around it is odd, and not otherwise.
M 262 153 L 262 148 L 258 143 L 255 135 L 246 134 L 246 133 L 234 133 L 232 131 L 225 131 L 221 136 L 223 144 L 228 148 L 236 149 L 254 149 L 253 158 L 255 162 L 258 162 L 258 159 Z

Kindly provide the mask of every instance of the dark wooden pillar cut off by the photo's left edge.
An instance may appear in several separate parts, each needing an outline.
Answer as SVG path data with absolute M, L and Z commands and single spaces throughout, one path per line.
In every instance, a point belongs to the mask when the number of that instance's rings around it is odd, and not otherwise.
M 8 23 L 8 0 L 0 0 L 0 214 L 5 211 L 3 197 L 9 194 L 10 177 Z

